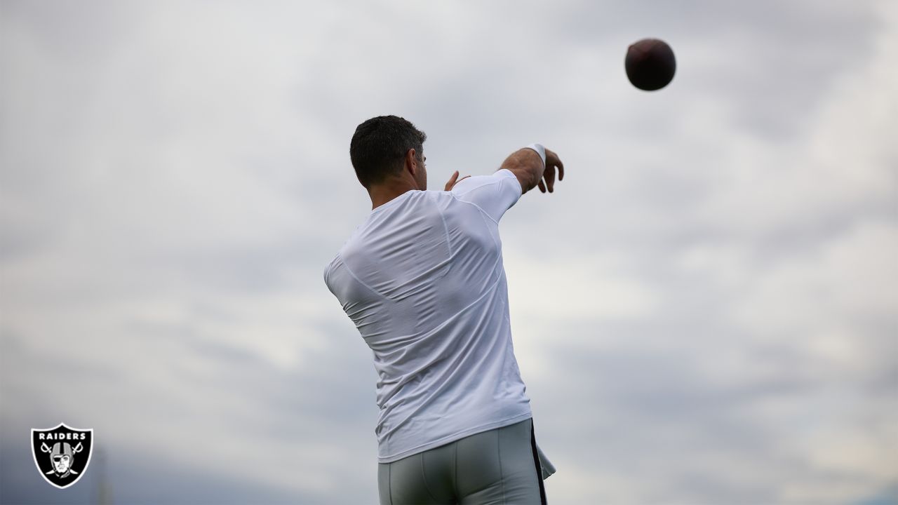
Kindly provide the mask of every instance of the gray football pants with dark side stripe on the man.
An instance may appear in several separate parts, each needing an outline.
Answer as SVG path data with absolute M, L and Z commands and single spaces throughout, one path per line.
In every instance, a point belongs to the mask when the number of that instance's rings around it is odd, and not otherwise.
M 533 419 L 377 465 L 381 505 L 546 503 Z

